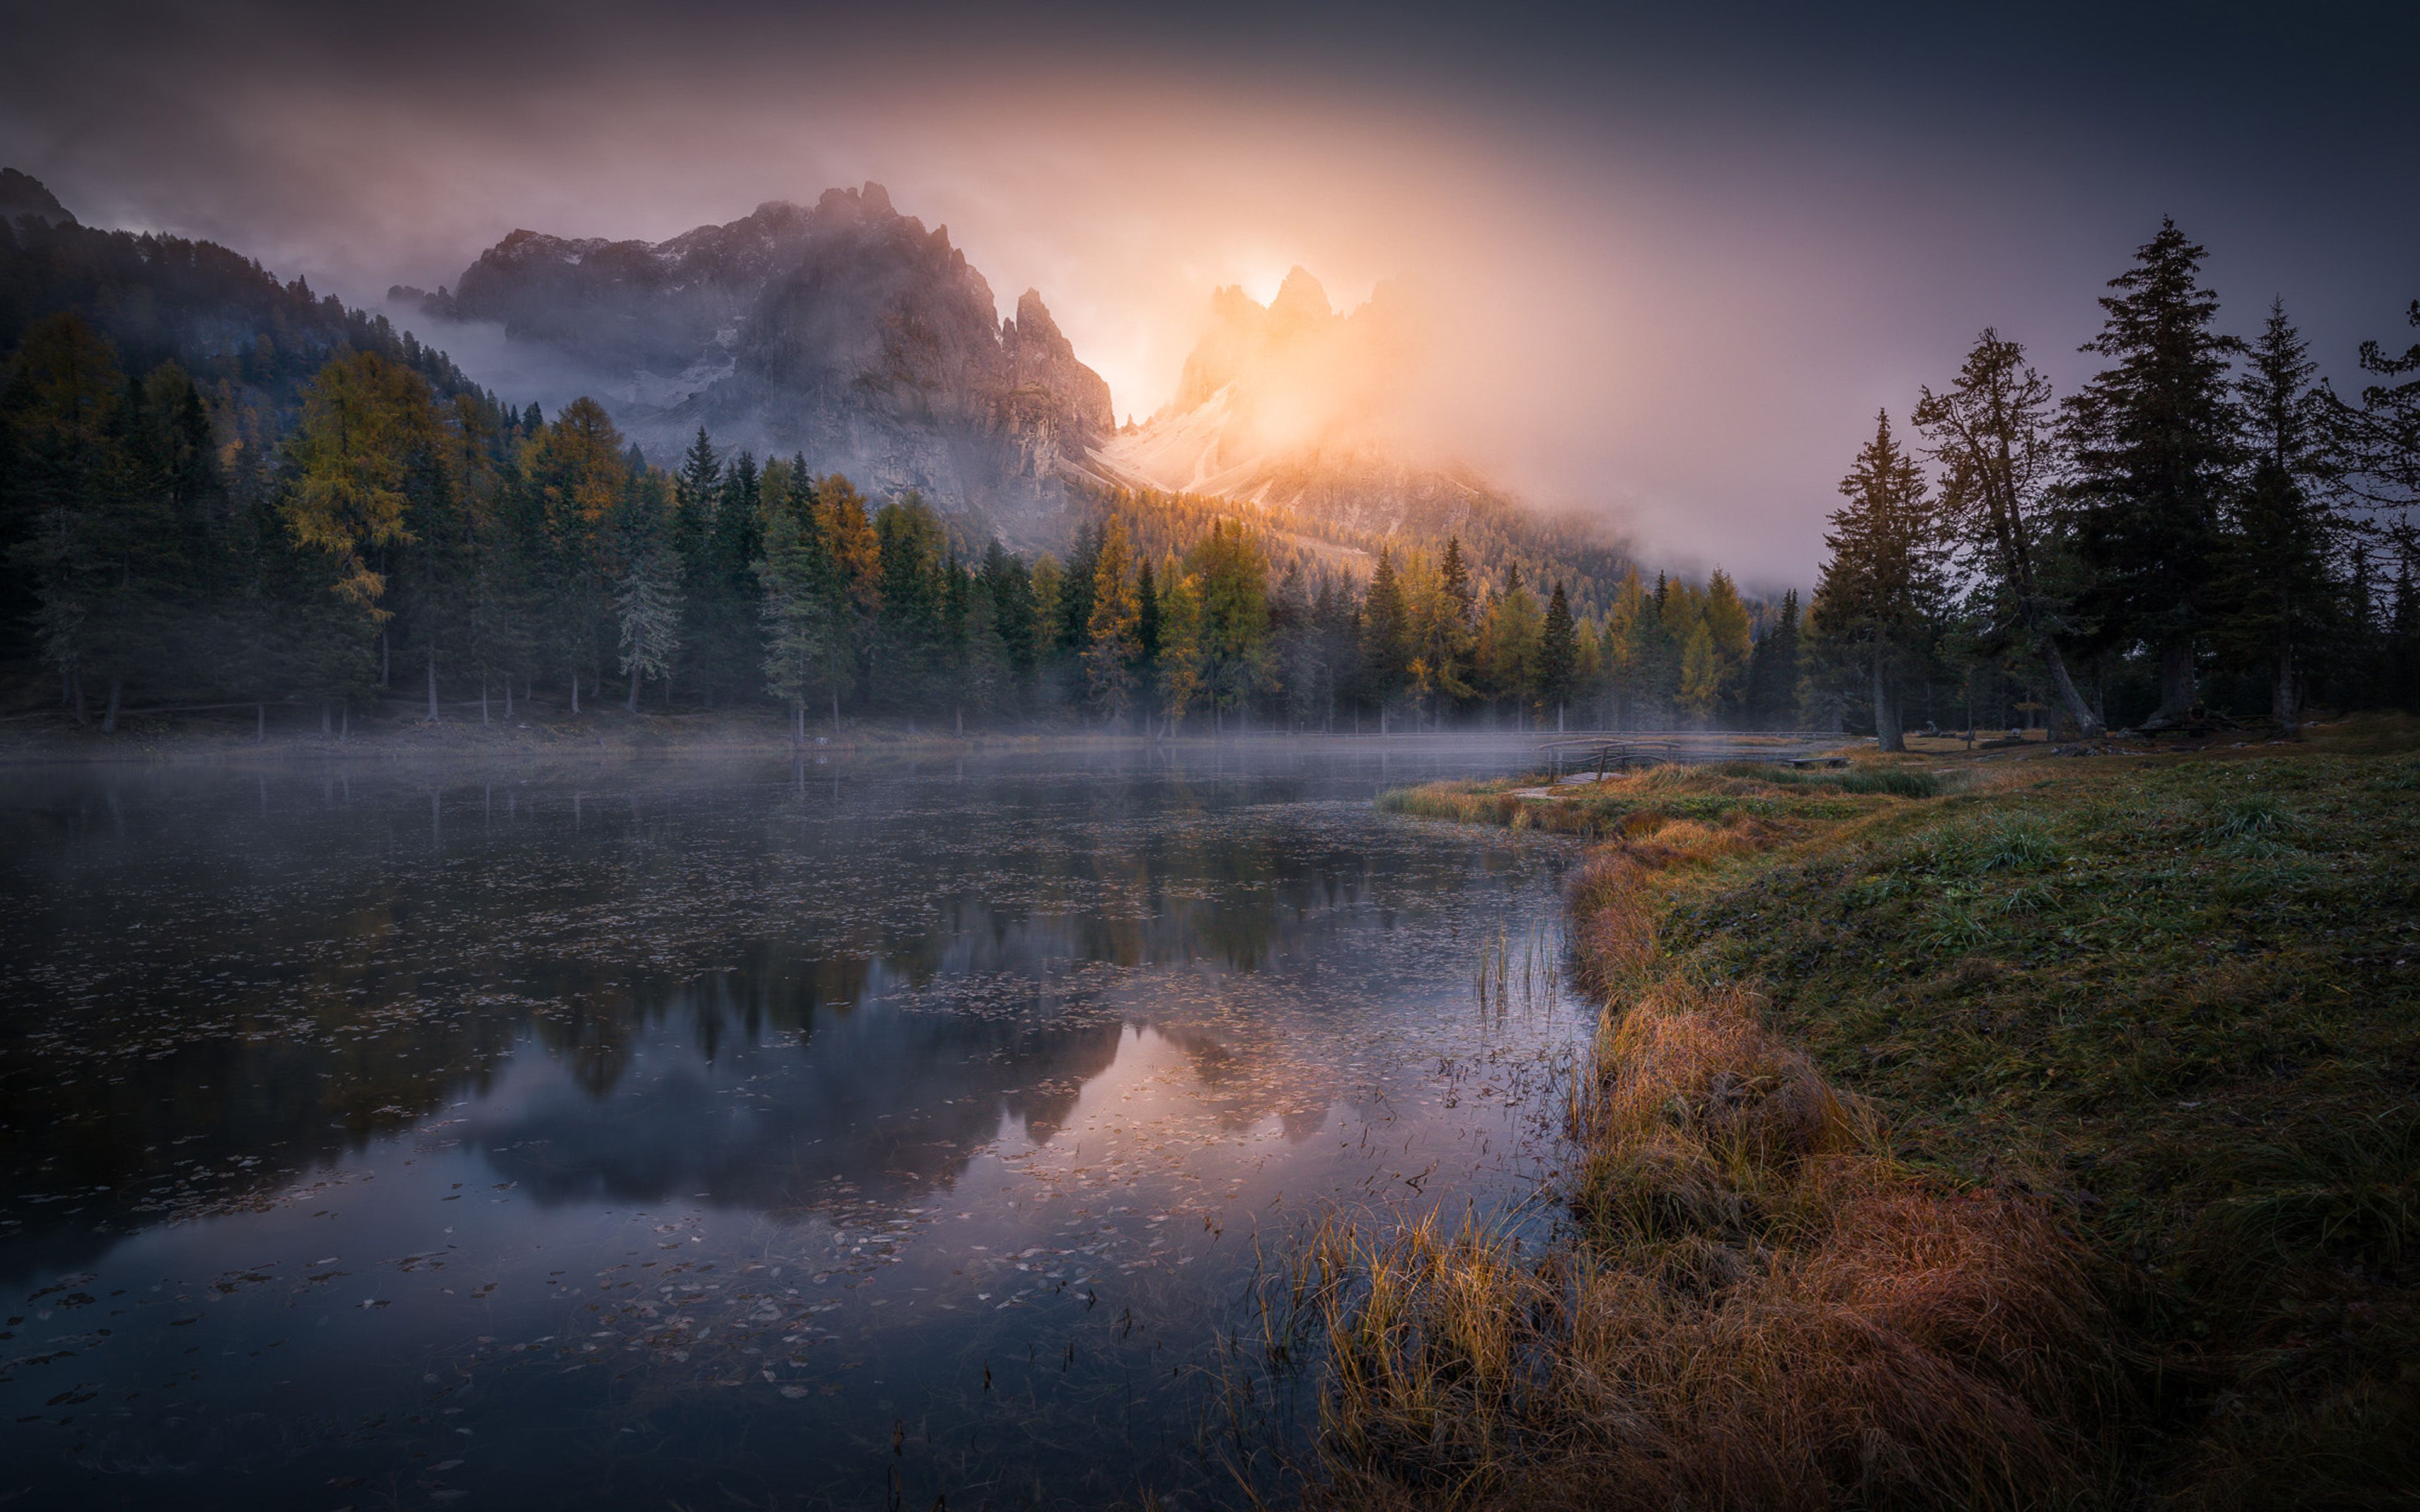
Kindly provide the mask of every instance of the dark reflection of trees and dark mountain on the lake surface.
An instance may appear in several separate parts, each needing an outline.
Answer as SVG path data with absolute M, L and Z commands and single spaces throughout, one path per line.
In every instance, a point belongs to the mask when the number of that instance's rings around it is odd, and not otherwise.
M 29 987 L 0 1004 L 0 1159 L 22 1190 L 111 1190 L 73 1217 L 73 1202 L 7 1212 L 12 1265 L 92 1251 L 109 1241 L 94 1222 L 152 1222 L 145 1202 L 273 1190 L 479 1096 L 525 1035 L 590 1106 L 566 1091 L 547 1113 L 566 1132 L 525 1135 L 557 1139 L 547 1168 L 564 1183 L 583 1181 L 564 1166 L 583 1139 L 586 1181 L 620 1195 L 697 1173 L 687 1190 L 741 1202 L 830 1176 L 937 1181 L 1002 1108 L 1048 1135 L 1113 1060 L 1116 1018 L 1070 994 L 1072 968 L 1256 973 L 1392 927 L 1392 910 L 1464 888 L 1483 854 L 1435 839 L 1375 854 L 1358 803 L 1237 813 L 1232 791 L 1152 774 L 852 777 L 835 801 L 820 784 L 612 767 L 431 793 L 380 772 L 19 786 L 0 815 L 0 958 Z M 641 1072 L 639 1048 L 653 1055 L 673 1021 L 690 1060 Z M 1220 1043 L 1188 1031 L 1198 1064 Z M 719 1081 L 733 1057 L 786 1067 L 765 1072 L 786 1101 L 704 1120 L 707 1069 Z M 1227 1091 L 1249 1101 L 1251 1084 Z

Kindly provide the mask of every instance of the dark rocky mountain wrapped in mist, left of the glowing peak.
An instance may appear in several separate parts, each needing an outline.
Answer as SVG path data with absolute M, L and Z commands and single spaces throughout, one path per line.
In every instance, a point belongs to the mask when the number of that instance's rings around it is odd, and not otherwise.
M 881 184 L 668 242 L 515 230 L 450 290 L 390 300 L 564 358 L 658 460 L 704 426 L 874 494 L 920 489 L 1012 539 L 1048 535 L 1065 474 L 1111 435 L 1108 385 L 1041 293 L 999 319 L 949 227 L 900 215 Z

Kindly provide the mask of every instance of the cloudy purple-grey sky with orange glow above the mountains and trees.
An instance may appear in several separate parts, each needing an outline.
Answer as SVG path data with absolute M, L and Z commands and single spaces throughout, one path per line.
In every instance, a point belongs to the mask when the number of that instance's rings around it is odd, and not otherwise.
M 1406 278 L 1442 452 L 1781 588 L 1876 411 L 1982 327 L 2081 382 L 2161 215 L 2229 329 L 2282 295 L 2340 389 L 2362 339 L 2408 341 L 2415 17 L 0 0 L 0 162 L 353 302 L 515 227 L 661 240 L 871 179 L 1002 312 L 1038 288 L 1120 416 L 1215 285 Z

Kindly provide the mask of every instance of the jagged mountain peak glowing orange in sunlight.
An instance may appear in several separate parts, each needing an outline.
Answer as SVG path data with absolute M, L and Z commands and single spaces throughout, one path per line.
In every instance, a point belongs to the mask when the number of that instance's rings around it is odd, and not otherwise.
M 1295 269 L 1261 305 L 1241 288 L 1210 295 L 1210 312 L 1147 423 L 1111 435 L 1089 472 L 1137 494 L 1246 501 L 1270 530 L 1348 544 L 1464 552 L 1568 578 L 1575 600 L 1602 607 L 1629 554 L 1580 520 L 1549 520 L 1496 491 L 1428 440 L 1423 389 L 1428 322 L 1399 285 L 1382 283 L 1353 312 Z

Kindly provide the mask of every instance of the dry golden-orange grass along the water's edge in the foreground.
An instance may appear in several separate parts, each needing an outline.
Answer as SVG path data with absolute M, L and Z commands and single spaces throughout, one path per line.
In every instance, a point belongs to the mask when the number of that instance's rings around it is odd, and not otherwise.
M 1779 1040 L 1750 989 L 1663 956 L 1663 885 L 1764 844 L 1752 815 L 1636 813 L 1621 832 L 1571 888 L 1580 980 L 1609 1002 L 1571 1103 L 1578 1231 L 1544 1256 L 1435 1219 L 1319 1236 L 1297 1277 L 1333 1372 L 1319 1495 L 2086 1500 L 2108 1374 L 2079 1246 L 2021 1190 L 1895 1164 L 1871 1108 Z

